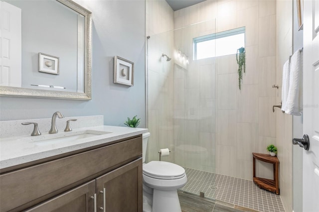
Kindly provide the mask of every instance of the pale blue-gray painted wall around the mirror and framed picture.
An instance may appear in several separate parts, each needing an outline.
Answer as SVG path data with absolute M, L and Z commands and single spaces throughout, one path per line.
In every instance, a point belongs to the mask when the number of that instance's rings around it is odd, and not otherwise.
M 123 126 L 128 116 L 145 127 L 145 1 L 76 0 L 92 11 L 92 100 L 0 97 L 0 120 L 104 115 L 104 124 Z M 134 86 L 113 84 L 114 56 L 135 63 Z

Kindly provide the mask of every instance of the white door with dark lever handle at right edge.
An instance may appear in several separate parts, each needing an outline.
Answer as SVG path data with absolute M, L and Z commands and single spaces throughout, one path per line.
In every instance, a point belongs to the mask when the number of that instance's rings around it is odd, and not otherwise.
M 303 212 L 319 212 L 319 0 L 304 0 Z

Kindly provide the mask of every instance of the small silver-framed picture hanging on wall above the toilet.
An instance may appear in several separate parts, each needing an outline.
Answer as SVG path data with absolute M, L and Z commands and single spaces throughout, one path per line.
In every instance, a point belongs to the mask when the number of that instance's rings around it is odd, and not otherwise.
M 122 57 L 114 57 L 114 83 L 134 85 L 134 63 Z

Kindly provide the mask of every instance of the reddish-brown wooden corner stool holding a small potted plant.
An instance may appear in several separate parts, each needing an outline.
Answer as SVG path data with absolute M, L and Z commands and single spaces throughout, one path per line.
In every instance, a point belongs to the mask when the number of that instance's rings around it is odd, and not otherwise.
M 274 180 L 256 177 L 255 159 L 264 161 L 266 163 L 272 163 L 274 165 Z M 279 160 L 277 156 L 270 156 L 269 154 L 261 154 L 253 152 L 253 181 L 259 186 L 270 192 L 275 192 L 279 195 Z

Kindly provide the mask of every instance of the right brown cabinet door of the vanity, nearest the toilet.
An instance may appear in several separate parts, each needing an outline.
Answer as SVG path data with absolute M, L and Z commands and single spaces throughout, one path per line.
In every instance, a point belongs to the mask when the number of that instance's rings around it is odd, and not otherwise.
M 101 212 L 142 212 L 142 158 L 97 178 L 96 186 Z

